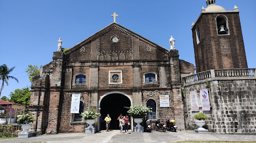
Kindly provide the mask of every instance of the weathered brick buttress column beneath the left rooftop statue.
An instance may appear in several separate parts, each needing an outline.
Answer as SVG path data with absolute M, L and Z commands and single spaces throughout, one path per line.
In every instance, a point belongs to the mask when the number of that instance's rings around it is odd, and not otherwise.
M 63 66 L 63 52 L 54 52 L 52 57 L 53 69 L 50 75 L 50 102 L 49 102 L 49 118 L 48 127 L 46 129 L 47 134 L 56 134 L 58 132 L 59 124 L 59 106 L 60 97 L 62 94 L 62 66 Z

